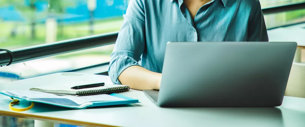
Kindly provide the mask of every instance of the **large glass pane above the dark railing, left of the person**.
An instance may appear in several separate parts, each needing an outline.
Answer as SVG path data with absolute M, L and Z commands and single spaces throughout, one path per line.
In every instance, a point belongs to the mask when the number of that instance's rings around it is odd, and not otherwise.
M 0 47 L 118 31 L 128 0 L 0 0 Z

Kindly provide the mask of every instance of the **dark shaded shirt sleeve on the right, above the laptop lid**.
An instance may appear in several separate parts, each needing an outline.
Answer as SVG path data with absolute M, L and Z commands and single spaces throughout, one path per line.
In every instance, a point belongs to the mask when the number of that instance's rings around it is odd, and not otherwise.
M 264 15 L 260 2 L 257 0 L 253 5 L 253 15 L 248 24 L 248 41 L 269 41 Z

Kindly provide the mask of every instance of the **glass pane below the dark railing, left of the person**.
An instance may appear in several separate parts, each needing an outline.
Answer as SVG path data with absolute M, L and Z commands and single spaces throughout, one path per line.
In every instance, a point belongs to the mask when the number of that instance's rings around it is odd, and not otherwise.
M 107 63 L 113 46 L 100 46 L 0 67 L 0 83 Z

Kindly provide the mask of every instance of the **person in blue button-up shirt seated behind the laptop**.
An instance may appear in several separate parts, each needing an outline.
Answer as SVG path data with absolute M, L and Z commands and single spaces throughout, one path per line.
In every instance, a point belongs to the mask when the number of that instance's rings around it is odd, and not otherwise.
M 113 83 L 159 89 L 168 41 L 268 41 L 268 36 L 258 0 L 130 0 L 111 54 Z

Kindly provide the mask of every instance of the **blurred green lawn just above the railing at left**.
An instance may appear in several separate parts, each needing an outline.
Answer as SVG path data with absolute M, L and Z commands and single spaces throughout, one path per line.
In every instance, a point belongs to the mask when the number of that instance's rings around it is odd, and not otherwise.
M 111 18 L 111 19 L 103 19 L 95 21 L 94 34 L 102 34 L 102 33 L 109 33 L 115 32 L 120 29 L 122 24 L 123 18 Z M 15 26 L 14 22 L 1 22 L 0 28 L 1 29 L 12 29 Z M 20 47 L 27 47 L 27 46 L 34 46 L 38 44 L 45 43 L 45 36 L 46 36 L 46 29 L 45 24 L 37 24 L 35 27 L 36 30 L 36 38 L 31 39 L 30 37 L 30 25 L 23 24 L 22 25 L 24 32 L 19 32 L 18 36 L 15 38 L 10 37 L 10 31 L 2 31 L 0 34 L 0 47 L 13 47 L 20 48 Z M 57 26 L 59 28 L 59 26 Z M 25 28 L 25 29 L 24 29 Z M 74 39 L 84 36 L 89 36 L 87 30 L 83 30 L 88 28 L 87 23 L 75 23 L 75 24 L 66 24 L 63 28 L 63 35 L 64 36 L 57 36 L 56 41 L 67 40 L 67 39 Z

